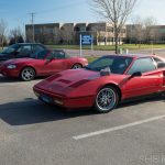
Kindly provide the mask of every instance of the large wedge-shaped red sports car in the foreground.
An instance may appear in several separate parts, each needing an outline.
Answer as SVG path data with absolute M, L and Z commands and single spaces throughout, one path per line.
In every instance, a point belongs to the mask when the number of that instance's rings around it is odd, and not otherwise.
M 44 102 L 109 112 L 120 101 L 165 92 L 165 59 L 155 55 L 108 55 L 86 68 L 51 76 L 33 90 Z

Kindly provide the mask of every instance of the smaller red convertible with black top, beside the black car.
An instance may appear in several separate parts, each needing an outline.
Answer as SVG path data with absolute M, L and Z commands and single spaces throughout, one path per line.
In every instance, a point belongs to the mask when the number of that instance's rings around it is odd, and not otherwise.
M 7 77 L 20 77 L 32 80 L 36 76 L 51 76 L 65 69 L 76 69 L 88 65 L 86 58 L 72 57 L 64 51 L 44 50 L 32 54 L 30 58 L 18 58 L 4 62 L 0 66 L 0 74 Z

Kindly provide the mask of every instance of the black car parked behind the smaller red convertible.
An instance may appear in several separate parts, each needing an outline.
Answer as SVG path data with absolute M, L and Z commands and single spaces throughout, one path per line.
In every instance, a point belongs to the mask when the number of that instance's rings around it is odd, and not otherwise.
M 46 50 L 46 47 L 42 44 L 18 43 L 9 46 L 0 53 L 0 63 L 12 58 L 30 57 L 31 54 L 34 54 L 42 50 Z

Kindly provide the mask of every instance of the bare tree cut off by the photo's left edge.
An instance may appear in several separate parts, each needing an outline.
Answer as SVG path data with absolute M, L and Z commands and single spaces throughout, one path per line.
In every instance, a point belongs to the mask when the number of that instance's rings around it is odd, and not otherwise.
M 3 48 L 3 44 L 6 41 L 6 34 L 7 34 L 7 22 L 4 20 L 0 20 L 0 45 Z

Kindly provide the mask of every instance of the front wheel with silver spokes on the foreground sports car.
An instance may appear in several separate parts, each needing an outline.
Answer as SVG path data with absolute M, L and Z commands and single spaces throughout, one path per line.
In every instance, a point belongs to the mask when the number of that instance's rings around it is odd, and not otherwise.
M 96 96 L 95 108 L 99 113 L 108 113 L 119 103 L 119 94 L 114 87 L 107 86 L 100 89 Z

